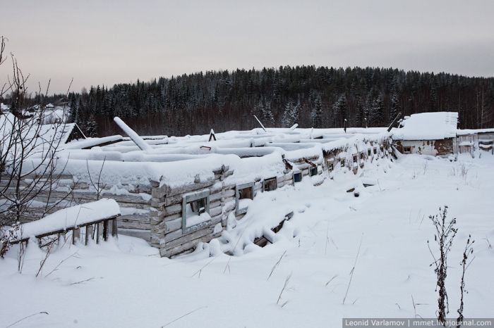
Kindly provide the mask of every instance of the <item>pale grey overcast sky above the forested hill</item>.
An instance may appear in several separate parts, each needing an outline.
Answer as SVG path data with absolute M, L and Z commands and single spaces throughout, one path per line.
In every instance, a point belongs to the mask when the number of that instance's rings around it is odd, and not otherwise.
M 279 65 L 494 76 L 493 0 L 0 0 L 0 12 L 30 88 L 51 78 L 51 92 L 72 77 L 80 91 Z M 8 67 L 0 73 L 3 84 Z

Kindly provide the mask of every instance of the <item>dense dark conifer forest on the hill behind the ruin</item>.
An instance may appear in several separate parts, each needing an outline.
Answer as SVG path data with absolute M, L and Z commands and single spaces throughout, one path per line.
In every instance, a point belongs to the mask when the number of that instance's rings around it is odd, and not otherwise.
M 54 96 L 56 97 L 56 96 Z M 494 78 L 392 68 L 284 66 L 198 72 L 71 93 L 71 120 L 88 134 L 205 134 L 258 127 L 387 126 L 397 113 L 457 111 L 462 128 L 494 127 Z

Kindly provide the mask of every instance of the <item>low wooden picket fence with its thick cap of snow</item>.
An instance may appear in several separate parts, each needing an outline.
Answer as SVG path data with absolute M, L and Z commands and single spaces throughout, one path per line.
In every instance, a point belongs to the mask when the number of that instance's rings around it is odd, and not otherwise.
M 83 241 L 85 245 L 94 240 L 97 244 L 109 236 L 117 236 L 116 218 L 120 216 L 119 205 L 113 199 L 101 199 L 92 203 L 58 210 L 40 220 L 20 225 L 11 231 L 10 244 L 28 243 L 31 238 L 38 240 L 56 236 L 66 239 L 71 233 L 72 243 Z M 8 232 L 9 233 L 9 232 Z M 84 240 L 81 240 L 81 236 Z

